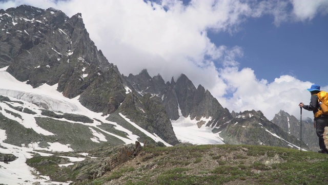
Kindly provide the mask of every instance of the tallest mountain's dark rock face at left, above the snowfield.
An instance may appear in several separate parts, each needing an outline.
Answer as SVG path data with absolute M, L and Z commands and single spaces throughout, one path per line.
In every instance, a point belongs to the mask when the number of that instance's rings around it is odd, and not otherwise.
M 116 66 L 89 38 L 81 14 L 19 6 L 2 10 L 0 67 L 33 87 L 58 83 L 68 98 L 95 112 L 112 113 L 125 98 Z

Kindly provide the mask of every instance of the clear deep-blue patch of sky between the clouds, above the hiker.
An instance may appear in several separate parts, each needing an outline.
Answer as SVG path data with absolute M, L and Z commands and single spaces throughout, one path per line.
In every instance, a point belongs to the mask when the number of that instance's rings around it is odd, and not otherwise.
M 279 26 L 267 15 L 248 20 L 233 34 L 209 31 L 208 36 L 216 44 L 242 47 L 240 67 L 252 68 L 259 79 L 272 82 L 281 75 L 291 75 L 328 85 L 328 78 L 322 78 L 328 75 L 323 67 L 328 64 L 328 15 Z

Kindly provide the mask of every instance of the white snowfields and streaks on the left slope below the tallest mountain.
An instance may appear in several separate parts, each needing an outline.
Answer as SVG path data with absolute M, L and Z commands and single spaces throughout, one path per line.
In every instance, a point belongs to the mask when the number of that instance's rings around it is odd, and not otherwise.
M 47 118 L 47 116 L 42 115 L 42 109 L 52 110 L 58 115 L 64 113 L 85 115 L 93 120 L 93 123 L 83 123 L 76 122 L 72 120 L 67 120 L 65 118 L 52 118 L 60 121 L 66 121 L 72 124 L 78 123 L 81 125 L 88 126 L 92 136 L 91 141 L 95 143 L 106 142 L 108 135 L 116 137 L 125 144 L 135 143 L 139 136 L 134 135 L 131 131 L 120 126 L 115 122 L 106 120 L 106 117 L 102 116 L 101 113 L 95 113 L 89 109 L 82 106 L 78 97 L 74 99 L 69 99 L 61 95 L 56 88 L 57 84 L 49 86 L 44 84 L 37 88 L 32 88 L 32 86 L 26 84 L 25 82 L 19 82 L 13 78 L 8 72 L 6 72 L 7 67 L 0 69 L 0 95 L 8 97 L 11 102 L 0 102 L 0 113 L 6 118 L 16 121 L 23 125 L 25 128 L 31 128 L 34 132 L 40 136 L 56 136 L 55 133 L 47 131 L 45 128 L 39 126 L 35 120 L 35 117 Z M 16 110 L 12 107 L 22 107 L 32 110 L 34 115 L 27 114 L 22 111 Z M 124 115 L 120 116 L 127 119 Z M 5 121 L 5 120 L 2 120 Z M 153 138 L 155 141 L 161 141 L 167 146 L 170 144 L 166 143 L 160 139 L 156 134 L 147 132 L 146 130 L 138 127 L 135 123 L 127 120 L 132 126 L 141 132 L 145 133 L 147 136 Z M 126 137 L 113 134 L 111 132 L 105 131 L 100 128 L 101 124 L 114 125 L 114 128 L 118 131 L 126 133 Z M 48 177 L 38 177 L 36 178 L 33 169 L 28 167 L 25 163 L 27 158 L 31 158 L 33 153 L 38 153 L 40 155 L 51 155 L 48 153 L 39 152 L 43 151 L 63 151 L 69 152 L 73 151 L 70 144 L 63 144 L 60 142 L 48 142 L 48 146 L 40 145 L 40 142 L 32 142 L 29 144 L 21 144 L 19 146 L 8 144 L 6 142 L 7 135 L 6 130 L 2 128 L 0 130 L 0 153 L 3 154 L 13 154 L 17 157 L 16 160 L 8 163 L 0 163 L 0 182 L 5 184 L 31 184 L 33 182 L 39 181 L 42 184 L 59 184 L 59 182 L 51 182 Z M 81 133 L 84 134 L 84 133 Z M 60 182 L 61 184 L 68 184 Z

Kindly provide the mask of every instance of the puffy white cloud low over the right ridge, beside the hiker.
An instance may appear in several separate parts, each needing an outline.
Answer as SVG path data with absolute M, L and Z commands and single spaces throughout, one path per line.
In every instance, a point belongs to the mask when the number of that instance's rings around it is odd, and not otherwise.
M 310 88 L 312 83 L 302 82 L 292 76 L 281 76 L 268 83 L 266 80 L 258 80 L 250 68 L 238 70 L 234 67 L 222 70 L 220 77 L 234 93 L 231 98 L 219 98 L 219 102 L 235 112 L 261 110 L 271 120 L 282 109 L 299 118 L 298 104 L 310 103 L 311 96 L 306 88 Z M 313 113 L 304 110 L 303 116 L 312 118 Z

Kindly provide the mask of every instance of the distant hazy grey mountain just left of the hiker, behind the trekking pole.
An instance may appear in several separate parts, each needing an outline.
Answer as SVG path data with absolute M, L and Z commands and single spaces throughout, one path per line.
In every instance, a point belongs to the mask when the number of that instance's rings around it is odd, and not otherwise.
M 278 114 L 275 115 L 273 120 L 274 124 L 278 125 L 282 130 L 292 134 L 297 139 L 301 139 L 301 127 L 300 120 L 295 116 L 291 116 L 288 113 L 280 110 Z M 318 151 L 318 136 L 316 130 L 313 126 L 313 120 L 311 118 L 302 119 L 302 141 L 312 150 Z

